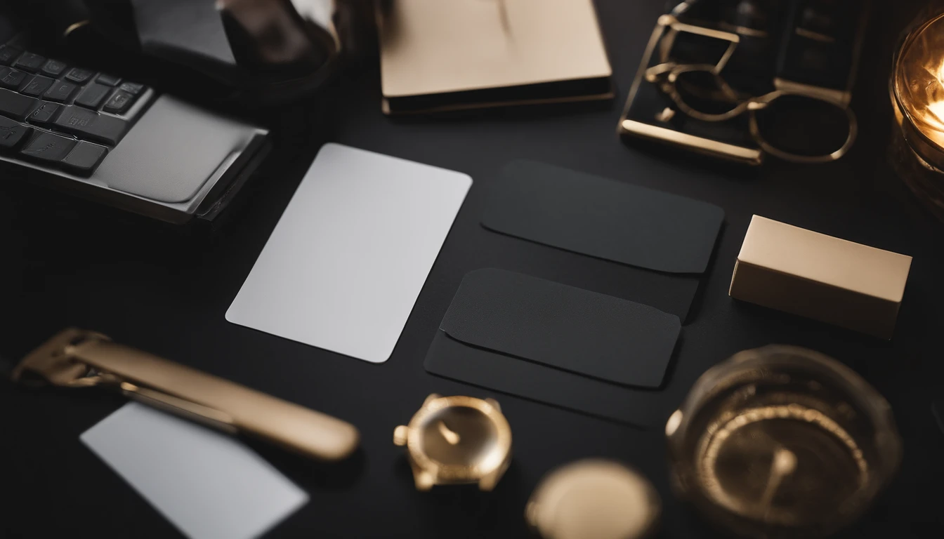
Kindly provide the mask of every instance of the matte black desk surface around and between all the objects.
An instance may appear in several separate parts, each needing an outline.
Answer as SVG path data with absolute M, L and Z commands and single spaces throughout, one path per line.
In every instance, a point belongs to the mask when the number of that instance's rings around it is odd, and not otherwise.
M 771 162 L 752 174 L 704 176 L 677 154 L 679 177 L 633 174 L 644 155 L 615 126 L 661 0 L 598 2 L 619 95 L 603 109 L 521 109 L 453 120 L 393 122 L 379 110 L 376 66 L 342 81 L 327 114 L 291 110 L 273 160 L 255 179 L 251 205 L 211 239 L 126 224 L 105 211 L 0 185 L 0 353 L 19 357 L 67 325 L 342 417 L 362 431 L 362 461 L 343 472 L 265 452 L 311 494 L 272 537 L 520 537 L 525 501 L 553 467 L 591 456 L 631 463 L 664 500 L 662 537 L 709 537 L 673 497 L 663 433 L 512 396 L 495 395 L 514 430 L 514 463 L 492 494 L 474 489 L 417 493 L 396 425 L 432 392 L 488 392 L 430 376 L 423 357 L 464 274 L 498 267 L 620 295 L 624 268 L 497 235 L 480 227 L 487 187 L 515 158 L 543 160 L 700 198 L 727 211 L 698 311 L 665 395 L 667 417 L 695 379 L 734 352 L 768 343 L 804 345 L 849 363 L 895 411 L 905 457 L 897 480 L 844 537 L 941 536 L 939 485 L 944 432 L 931 412 L 944 387 L 944 226 L 924 213 L 887 165 L 891 133 L 886 76 L 890 49 L 911 18 L 903 2 L 877 3 L 853 106 L 861 136 L 847 159 L 823 166 Z M 919 1 L 908 2 L 918 6 Z M 894 6 L 893 6 L 894 5 Z M 301 117 L 301 122 L 297 121 Z M 326 140 L 462 171 L 475 179 L 389 362 L 371 364 L 229 324 L 229 302 L 256 260 L 295 185 Z M 0 178 L 0 184 L 12 178 Z M 39 210 L 38 210 L 39 209 Z M 38 212 L 39 211 L 39 212 Z M 741 240 L 758 213 L 855 242 L 912 255 L 898 329 L 890 344 L 733 302 L 728 283 Z M 78 435 L 122 404 L 101 392 L 27 391 L 0 382 L 2 537 L 173 537 L 177 531 L 95 457 Z M 264 449 L 263 449 L 264 450 Z M 917 523 L 932 524 L 919 531 Z

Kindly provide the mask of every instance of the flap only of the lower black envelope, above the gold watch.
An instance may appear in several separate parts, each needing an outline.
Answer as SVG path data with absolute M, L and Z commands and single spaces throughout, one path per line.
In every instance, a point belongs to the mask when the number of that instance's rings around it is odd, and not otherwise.
M 467 345 L 623 385 L 662 385 L 679 317 L 557 282 L 481 269 L 463 279 L 440 328 Z

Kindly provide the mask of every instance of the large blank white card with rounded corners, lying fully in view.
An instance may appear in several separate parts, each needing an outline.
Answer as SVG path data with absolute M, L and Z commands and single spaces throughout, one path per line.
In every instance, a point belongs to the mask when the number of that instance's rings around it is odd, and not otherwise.
M 387 361 L 471 185 L 462 173 L 325 144 L 227 320 Z

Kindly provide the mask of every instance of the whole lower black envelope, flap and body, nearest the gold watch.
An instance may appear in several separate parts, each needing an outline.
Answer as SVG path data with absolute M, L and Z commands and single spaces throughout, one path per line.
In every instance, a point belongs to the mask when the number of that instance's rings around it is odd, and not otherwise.
M 677 316 L 513 272 L 465 276 L 426 357 L 431 374 L 648 427 Z M 618 379 L 617 381 L 604 381 Z M 632 384 L 634 387 L 625 385 Z

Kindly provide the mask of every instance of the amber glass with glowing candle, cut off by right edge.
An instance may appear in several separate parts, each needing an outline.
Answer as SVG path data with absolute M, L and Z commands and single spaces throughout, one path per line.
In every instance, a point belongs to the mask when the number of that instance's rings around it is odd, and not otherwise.
M 944 219 L 944 13 L 923 17 L 905 36 L 889 89 L 899 127 L 894 162 Z

